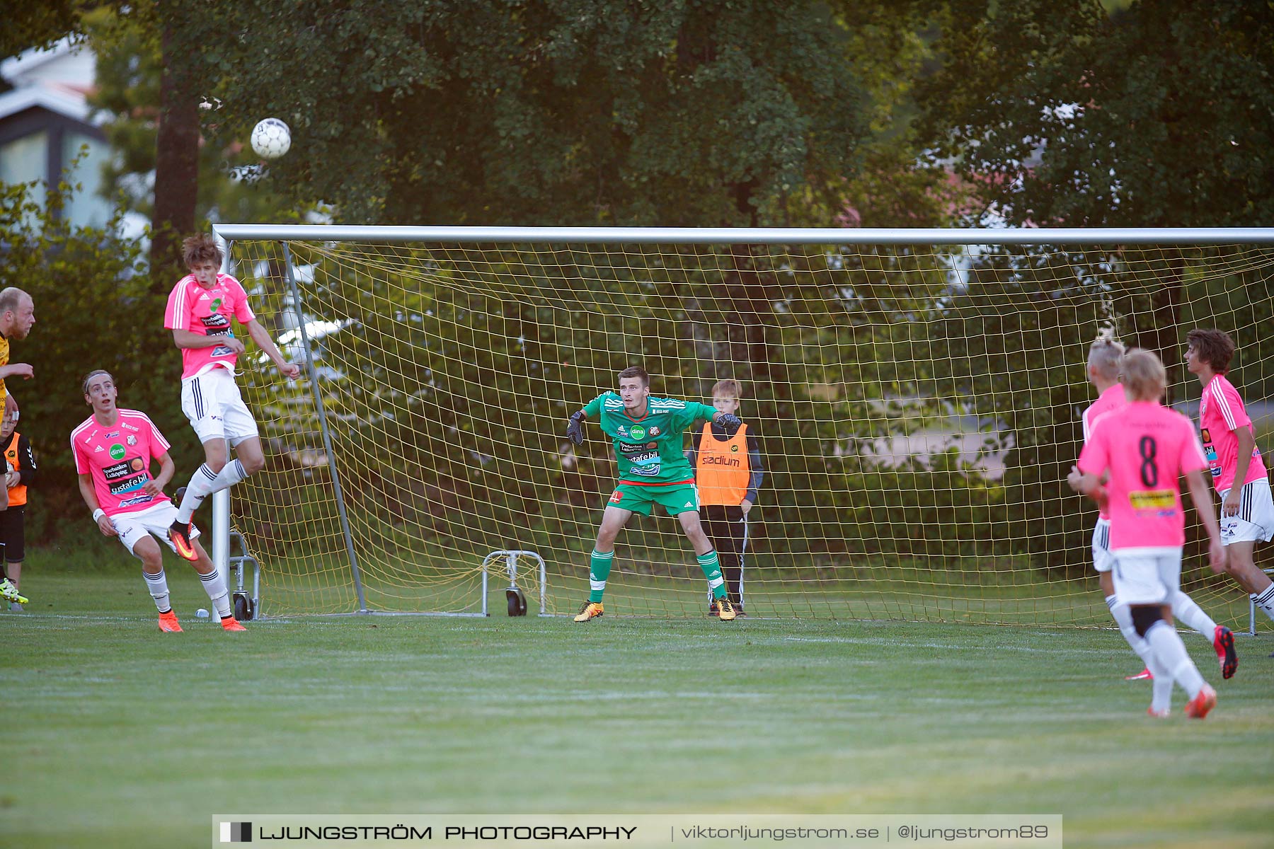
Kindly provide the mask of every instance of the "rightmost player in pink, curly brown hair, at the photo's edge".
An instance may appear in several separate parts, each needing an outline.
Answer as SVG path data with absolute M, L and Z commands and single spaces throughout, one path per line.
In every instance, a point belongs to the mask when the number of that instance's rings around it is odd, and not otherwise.
M 1199 378 L 1199 435 L 1220 494 L 1220 541 L 1229 552 L 1226 572 L 1252 602 L 1274 619 L 1274 584 L 1256 568 L 1256 544 L 1274 537 L 1274 499 L 1238 389 L 1226 378 L 1235 340 L 1219 330 L 1186 333 L 1186 368 Z M 1237 484 L 1237 485 L 1236 485 Z

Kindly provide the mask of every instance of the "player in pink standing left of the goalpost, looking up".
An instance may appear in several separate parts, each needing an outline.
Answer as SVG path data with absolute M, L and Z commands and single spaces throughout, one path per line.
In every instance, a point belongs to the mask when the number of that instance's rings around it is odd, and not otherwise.
M 93 510 L 98 530 L 104 536 L 120 537 L 129 554 L 141 560 L 141 577 L 159 610 L 159 630 L 180 631 L 177 614 L 168 603 L 162 551 L 153 538 L 163 540 L 177 551 L 168 533 L 177 508 L 163 494 L 173 472 L 168 440 L 144 412 L 116 406 L 118 392 L 110 372 L 89 372 L 83 388 L 84 401 L 93 407 L 93 415 L 71 432 L 80 495 Z M 155 477 L 150 476 L 152 460 L 159 461 L 159 475 Z M 199 531 L 191 530 L 191 536 L 197 537 Z M 222 617 L 222 628 L 227 631 L 247 630 L 234 621 L 225 578 L 197 538 L 191 538 L 190 544 L 195 550 L 195 572 Z

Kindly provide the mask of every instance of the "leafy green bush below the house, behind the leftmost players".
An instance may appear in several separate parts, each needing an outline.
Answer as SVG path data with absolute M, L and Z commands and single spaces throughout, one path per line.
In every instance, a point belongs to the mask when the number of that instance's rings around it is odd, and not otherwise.
M 118 219 L 103 228 L 68 224 L 57 213 L 73 191 L 80 188 L 51 186 L 38 205 L 27 185 L 0 186 L 0 280 L 25 289 L 36 303 L 31 336 L 10 350 L 14 363 L 33 365 L 34 378 L 9 381 L 39 462 L 32 538 L 45 538 L 54 518 L 83 514 L 69 439 L 90 412 L 80 382 L 92 369 L 115 375 L 121 406 L 155 420 L 173 440 L 180 468 L 191 468 L 197 451 L 173 439 L 189 429 L 177 402 L 180 360 L 158 330 L 164 299 L 150 293 L 141 249 L 118 235 Z

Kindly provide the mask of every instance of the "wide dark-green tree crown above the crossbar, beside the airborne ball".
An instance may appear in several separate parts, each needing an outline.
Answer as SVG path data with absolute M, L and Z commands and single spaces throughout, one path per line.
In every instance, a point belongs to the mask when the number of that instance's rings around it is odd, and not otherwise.
M 288 121 L 271 179 L 352 223 L 781 221 L 789 199 L 852 173 L 868 131 L 823 4 L 218 13 L 189 36 L 240 116 L 219 130 Z

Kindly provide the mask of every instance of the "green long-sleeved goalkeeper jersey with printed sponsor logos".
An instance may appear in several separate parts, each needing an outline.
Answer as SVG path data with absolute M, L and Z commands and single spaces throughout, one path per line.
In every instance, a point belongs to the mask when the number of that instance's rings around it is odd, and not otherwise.
M 619 482 L 683 484 L 694 480 L 682 434 L 699 420 L 711 420 L 716 409 L 697 401 L 646 398 L 646 415 L 632 419 L 617 392 L 603 392 L 583 407 L 615 444 Z

